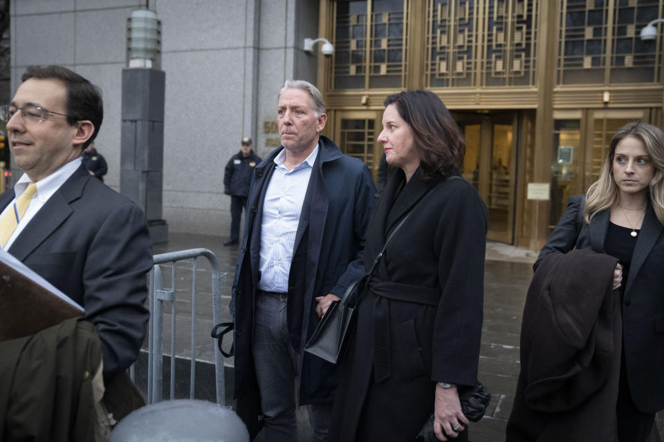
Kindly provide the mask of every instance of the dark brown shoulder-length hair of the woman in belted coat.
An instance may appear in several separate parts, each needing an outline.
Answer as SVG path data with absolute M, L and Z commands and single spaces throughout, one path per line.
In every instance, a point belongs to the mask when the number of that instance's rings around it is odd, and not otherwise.
M 463 135 L 438 95 L 428 90 L 405 90 L 390 95 L 384 104 L 394 104 L 410 126 L 423 180 L 441 181 L 463 169 Z

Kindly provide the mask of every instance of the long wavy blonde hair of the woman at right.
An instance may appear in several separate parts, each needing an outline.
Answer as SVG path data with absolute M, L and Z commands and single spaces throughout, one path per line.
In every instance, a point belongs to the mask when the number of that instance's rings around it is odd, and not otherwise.
M 618 184 L 614 180 L 614 154 L 616 146 L 625 137 L 634 137 L 643 142 L 655 168 L 654 177 L 649 184 L 649 199 L 652 209 L 661 224 L 664 224 L 664 133 L 652 124 L 631 122 L 616 131 L 609 144 L 609 155 L 602 166 L 599 179 L 586 193 L 583 219 L 590 220 L 602 210 L 609 209 L 618 202 Z

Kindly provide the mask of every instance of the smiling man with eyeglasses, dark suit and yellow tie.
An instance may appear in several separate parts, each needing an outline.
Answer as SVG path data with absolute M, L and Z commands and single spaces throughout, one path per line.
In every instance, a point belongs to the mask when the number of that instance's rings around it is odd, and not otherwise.
M 62 66 L 30 66 L 22 81 L 0 108 L 24 171 L 0 195 L 0 247 L 84 307 L 111 381 L 136 360 L 149 318 L 145 215 L 82 166 L 102 124 L 100 90 Z M 32 196 L 18 210 L 24 193 Z

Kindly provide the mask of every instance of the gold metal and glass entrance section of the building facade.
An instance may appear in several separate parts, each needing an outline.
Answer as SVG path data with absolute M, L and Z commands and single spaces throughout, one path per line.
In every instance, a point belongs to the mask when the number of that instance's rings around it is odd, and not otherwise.
M 432 90 L 465 134 L 463 176 L 488 206 L 489 238 L 539 249 L 614 131 L 663 123 L 662 39 L 639 37 L 663 3 L 322 0 L 327 130 L 376 171 L 382 101 Z

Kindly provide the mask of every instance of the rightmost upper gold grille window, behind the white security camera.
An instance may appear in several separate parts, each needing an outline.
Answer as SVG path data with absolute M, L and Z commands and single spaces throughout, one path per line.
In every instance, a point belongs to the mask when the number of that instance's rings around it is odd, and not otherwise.
M 557 84 L 658 83 L 661 33 L 640 30 L 662 16 L 663 0 L 564 0 L 560 8 Z

